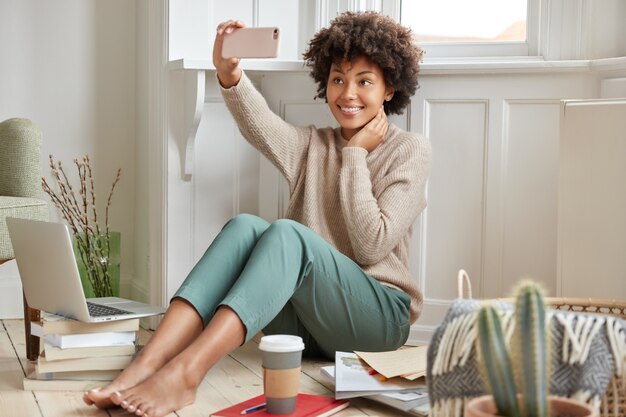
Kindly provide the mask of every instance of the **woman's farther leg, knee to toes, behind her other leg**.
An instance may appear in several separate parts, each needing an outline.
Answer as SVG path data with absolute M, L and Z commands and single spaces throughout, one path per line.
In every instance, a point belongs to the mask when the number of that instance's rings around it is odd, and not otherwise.
M 247 214 L 230 220 L 174 295 L 161 324 L 138 357 L 111 384 L 87 392 L 85 403 L 100 408 L 112 406 L 113 392 L 142 382 L 189 346 L 213 316 L 268 226 L 265 220 Z

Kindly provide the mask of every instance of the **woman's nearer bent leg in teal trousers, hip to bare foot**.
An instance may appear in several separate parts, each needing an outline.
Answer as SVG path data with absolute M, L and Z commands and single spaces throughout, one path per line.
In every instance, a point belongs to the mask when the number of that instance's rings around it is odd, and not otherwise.
M 286 311 L 288 302 L 297 309 L 311 304 L 306 309 L 311 317 L 302 323 L 306 327 L 320 320 L 311 334 L 324 342 L 324 353 L 333 338 L 344 349 L 354 344 L 350 349 L 384 350 L 402 345 L 408 335 L 405 294 L 388 291 L 310 229 L 279 220 L 258 239 L 218 314 L 200 337 L 152 377 L 114 396 L 114 402 L 137 415 L 161 417 L 193 401 L 211 366 L 277 316 L 285 319 L 281 311 Z M 349 336 L 341 337 L 338 329 Z M 186 378 L 183 391 L 167 395 L 165 391 L 182 375 Z

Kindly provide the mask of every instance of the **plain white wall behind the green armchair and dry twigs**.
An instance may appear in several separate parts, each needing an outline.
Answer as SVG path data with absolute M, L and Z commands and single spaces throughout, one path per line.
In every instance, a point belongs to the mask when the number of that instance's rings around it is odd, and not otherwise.
M 48 178 L 49 154 L 72 173 L 72 160 L 89 154 L 100 202 L 122 168 L 110 220 L 122 233 L 125 291 L 135 262 L 135 44 L 135 1 L 0 0 L 0 120 L 39 125 Z M 0 281 L 18 284 L 2 269 Z

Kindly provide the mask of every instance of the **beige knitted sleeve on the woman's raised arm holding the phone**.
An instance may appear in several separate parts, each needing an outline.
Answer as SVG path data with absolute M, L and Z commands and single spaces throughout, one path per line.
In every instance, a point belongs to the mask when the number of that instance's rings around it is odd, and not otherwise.
M 236 86 L 220 89 L 241 134 L 283 174 L 292 188 L 313 128 L 296 127 L 278 117 L 245 73 Z

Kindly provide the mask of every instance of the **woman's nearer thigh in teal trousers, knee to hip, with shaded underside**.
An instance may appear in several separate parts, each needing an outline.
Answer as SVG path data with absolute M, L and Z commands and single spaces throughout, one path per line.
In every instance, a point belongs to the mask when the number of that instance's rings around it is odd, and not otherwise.
M 308 271 L 263 333 L 299 335 L 306 356 L 331 359 L 336 351 L 402 346 L 410 330 L 409 295 L 382 285 L 308 228 L 292 228 L 285 232 L 307 242 Z

